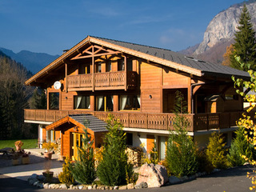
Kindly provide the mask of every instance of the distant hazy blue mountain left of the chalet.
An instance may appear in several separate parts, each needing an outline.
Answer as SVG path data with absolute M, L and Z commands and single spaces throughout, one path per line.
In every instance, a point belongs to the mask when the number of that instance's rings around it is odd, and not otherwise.
M 22 63 L 22 65 L 25 66 L 27 70 L 30 70 L 33 74 L 37 73 L 39 70 L 42 70 L 43 67 L 59 57 L 59 55 L 33 53 L 28 50 L 22 50 L 15 54 L 12 50 L 7 50 L 1 47 L 0 51 L 14 59 L 16 62 Z

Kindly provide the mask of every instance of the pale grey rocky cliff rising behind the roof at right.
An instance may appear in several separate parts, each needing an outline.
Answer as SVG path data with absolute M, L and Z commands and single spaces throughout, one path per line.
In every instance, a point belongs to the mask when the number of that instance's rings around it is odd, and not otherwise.
M 230 6 L 227 10 L 217 14 L 207 26 L 203 41 L 190 55 L 208 62 L 222 63 L 222 55 L 226 53 L 226 46 L 230 46 L 234 41 L 234 33 L 237 30 L 243 3 Z M 256 0 L 247 1 L 246 6 L 252 18 L 254 30 L 256 30 Z

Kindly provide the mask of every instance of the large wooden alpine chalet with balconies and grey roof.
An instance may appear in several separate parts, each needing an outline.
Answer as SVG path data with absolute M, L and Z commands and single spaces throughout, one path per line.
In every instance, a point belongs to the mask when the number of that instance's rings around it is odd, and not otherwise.
M 174 129 L 176 90 L 186 98 L 194 142 L 205 146 L 219 130 L 230 143 L 243 110 L 232 75 L 249 77 L 171 50 L 88 36 L 26 81 L 46 90 L 47 109 L 26 109 L 24 118 L 38 124 L 40 142 L 60 138 L 62 155 L 75 156 L 84 121 L 100 146 L 106 133 L 102 121 L 113 114 L 124 125 L 127 145 L 146 152 L 155 142 L 162 159 Z

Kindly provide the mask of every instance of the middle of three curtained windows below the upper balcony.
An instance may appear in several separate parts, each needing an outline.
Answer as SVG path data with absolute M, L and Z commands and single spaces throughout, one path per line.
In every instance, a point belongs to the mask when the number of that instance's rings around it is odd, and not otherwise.
M 112 111 L 113 110 L 113 96 L 96 96 L 96 110 L 98 111 Z

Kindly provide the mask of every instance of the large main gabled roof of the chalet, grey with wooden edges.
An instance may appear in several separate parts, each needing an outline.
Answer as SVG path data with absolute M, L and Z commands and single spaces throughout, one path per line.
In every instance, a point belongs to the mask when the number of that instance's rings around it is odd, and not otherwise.
M 59 58 L 51 62 L 48 66 L 40 70 L 37 74 L 25 83 L 29 85 L 31 82 L 36 81 L 37 78 L 47 74 L 54 67 L 58 67 L 64 63 L 64 61 L 70 56 L 77 54 L 83 46 L 88 43 L 94 43 L 100 46 L 105 46 L 113 50 L 118 50 L 124 54 L 130 54 L 138 58 L 145 59 L 149 62 L 155 62 L 163 66 L 169 66 L 175 70 L 181 70 L 188 74 L 194 74 L 198 77 L 202 76 L 227 76 L 235 75 L 239 78 L 249 78 L 249 74 L 242 70 L 236 70 L 229 66 L 222 66 L 210 62 L 203 62 L 201 60 L 186 57 L 183 54 L 178 54 L 171 50 L 161 49 L 152 46 L 142 46 L 130 42 L 121 42 L 107 38 L 98 38 L 93 36 L 87 36 L 82 42 L 66 51 Z

